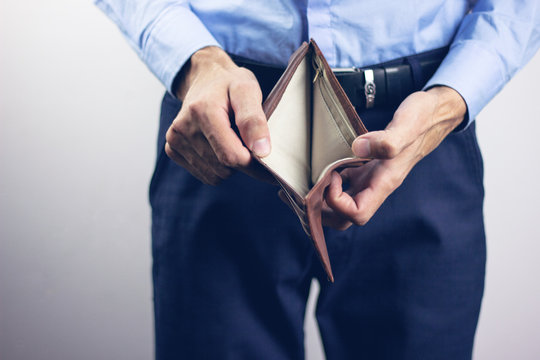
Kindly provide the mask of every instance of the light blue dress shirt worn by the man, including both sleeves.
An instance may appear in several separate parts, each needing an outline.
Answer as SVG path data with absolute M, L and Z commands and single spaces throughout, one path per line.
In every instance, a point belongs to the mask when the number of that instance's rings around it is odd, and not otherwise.
M 540 0 L 95 2 L 169 91 L 209 45 L 286 65 L 313 38 L 331 66 L 363 67 L 451 44 L 426 86 L 457 90 L 474 119 L 540 46 Z

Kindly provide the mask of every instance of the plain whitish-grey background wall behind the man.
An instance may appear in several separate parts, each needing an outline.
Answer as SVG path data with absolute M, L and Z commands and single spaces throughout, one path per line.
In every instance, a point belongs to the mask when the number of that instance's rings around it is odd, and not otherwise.
M 0 359 L 152 357 L 146 194 L 162 93 L 90 1 L 0 2 Z M 539 94 L 537 55 L 478 119 L 478 360 L 540 358 Z M 321 359 L 310 317 L 307 358 Z

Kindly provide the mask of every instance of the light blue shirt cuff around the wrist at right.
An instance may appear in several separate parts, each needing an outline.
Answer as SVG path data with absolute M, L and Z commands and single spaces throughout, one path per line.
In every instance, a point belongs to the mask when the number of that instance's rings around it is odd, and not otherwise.
M 461 131 L 471 124 L 505 82 L 498 55 L 480 41 L 466 40 L 452 44 L 448 55 L 424 89 L 443 85 L 461 95 L 467 105 L 467 115 L 456 129 Z

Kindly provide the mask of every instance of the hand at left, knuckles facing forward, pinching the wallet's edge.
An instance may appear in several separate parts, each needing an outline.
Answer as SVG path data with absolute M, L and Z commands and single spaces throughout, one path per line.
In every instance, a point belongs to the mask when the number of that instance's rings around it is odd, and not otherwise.
M 248 148 L 258 156 L 270 153 L 259 83 L 223 50 L 207 47 L 193 54 L 177 96 L 183 105 L 167 131 L 165 152 L 202 182 L 216 185 L 231 169 L 247 169 L 252 161 Z

